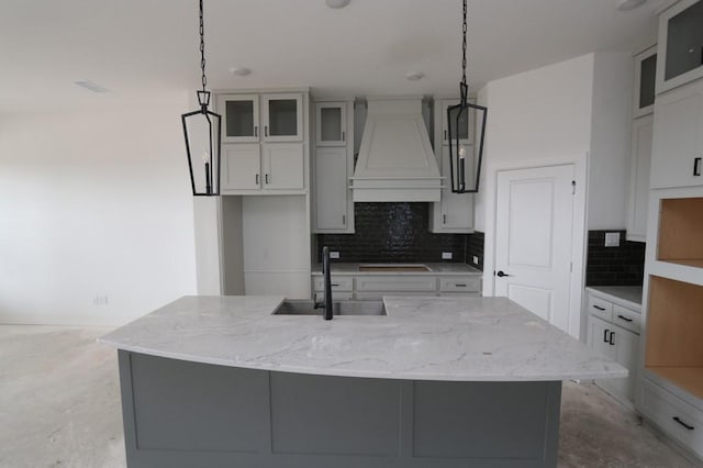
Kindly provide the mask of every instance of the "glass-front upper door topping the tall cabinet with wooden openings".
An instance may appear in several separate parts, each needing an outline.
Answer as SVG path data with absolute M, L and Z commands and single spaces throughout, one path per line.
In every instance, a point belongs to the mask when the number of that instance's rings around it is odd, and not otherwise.
M 681 0 L 659 16 L 657 92 L 703 77 L 703 0 Z

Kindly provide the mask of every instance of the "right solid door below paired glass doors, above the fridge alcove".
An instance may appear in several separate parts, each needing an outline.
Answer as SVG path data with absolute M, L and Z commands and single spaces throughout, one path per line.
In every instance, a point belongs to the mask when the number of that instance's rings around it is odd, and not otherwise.
M 304 157 L 302 143 L 272 143 L 264 148 L 264 188 L 303 189 Z

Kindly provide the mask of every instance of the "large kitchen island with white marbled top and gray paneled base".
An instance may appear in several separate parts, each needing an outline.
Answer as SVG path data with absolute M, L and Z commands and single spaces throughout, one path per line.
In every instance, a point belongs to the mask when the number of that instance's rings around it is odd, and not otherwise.
M 185 297 L 100 338 L 130 467 L 556 466 L 561 381 L 627 375 L 505 298 L 282 301 Z

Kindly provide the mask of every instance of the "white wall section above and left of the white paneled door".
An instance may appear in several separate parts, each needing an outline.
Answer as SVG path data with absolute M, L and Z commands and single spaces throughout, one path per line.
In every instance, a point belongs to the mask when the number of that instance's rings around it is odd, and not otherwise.
M 489 82 L 484 179 L 476 229 L 486 233 L 483 294 L 493 294 L 495 176 L 499 169 L 580 161 L 591 138 L 593 54 Z M 584 168 L 577 168 L 582 172 Z

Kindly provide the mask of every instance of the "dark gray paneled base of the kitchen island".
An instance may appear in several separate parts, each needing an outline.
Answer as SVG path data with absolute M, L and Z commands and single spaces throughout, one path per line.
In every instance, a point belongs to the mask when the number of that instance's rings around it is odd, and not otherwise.
M 241 369 L 119 352 L 130 468 L 555 467 L 560 381 Z

